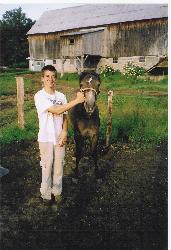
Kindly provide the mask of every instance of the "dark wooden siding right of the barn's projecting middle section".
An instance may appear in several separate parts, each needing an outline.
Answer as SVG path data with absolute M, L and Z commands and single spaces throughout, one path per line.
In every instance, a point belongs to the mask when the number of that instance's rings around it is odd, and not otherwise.
M 166 55 L 167 35 L 166 18 L 109 25 L 105 57 Z

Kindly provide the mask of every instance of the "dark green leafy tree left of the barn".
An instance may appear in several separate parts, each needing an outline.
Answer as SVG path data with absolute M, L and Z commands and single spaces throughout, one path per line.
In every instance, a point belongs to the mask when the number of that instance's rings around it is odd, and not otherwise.
M 0 20 L 0 65 L 12 66 L 27 62 L 27 32 L 35 21 L 26 18 L 21 7 L 6 11 Z

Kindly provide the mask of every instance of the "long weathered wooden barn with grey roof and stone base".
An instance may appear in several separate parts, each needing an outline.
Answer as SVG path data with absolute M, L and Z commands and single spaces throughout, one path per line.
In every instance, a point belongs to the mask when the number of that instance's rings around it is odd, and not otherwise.
M 128 61 L 147 70 L 167 57 L 167 4 L 88 4 L 46 11 L 28 32 L 29 67 L 58 72 Z

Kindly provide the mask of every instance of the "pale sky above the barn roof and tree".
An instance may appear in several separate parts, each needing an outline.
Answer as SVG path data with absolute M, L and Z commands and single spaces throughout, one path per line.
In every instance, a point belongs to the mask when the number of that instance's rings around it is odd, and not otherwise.
M 48 2 L 48 4 L 47 4 Z M 26 13 L 27 18 L 31 18 L 32 20 L 37 20 L 43 14 L 44 11 L 47 10 L 55 10 L 67 7 L 78 6 L 82 4 L 90 4 L 90 3 L 167 3 L 167 0 L 98 0 L 98 1 L 86 1 L 86 0 L 6 0 L 4 4 L 4 0 L 0 0 L 0 19 L 2 19 L 2 15 L 9 10 L 15 8 L 22 8 L 22 11 Z

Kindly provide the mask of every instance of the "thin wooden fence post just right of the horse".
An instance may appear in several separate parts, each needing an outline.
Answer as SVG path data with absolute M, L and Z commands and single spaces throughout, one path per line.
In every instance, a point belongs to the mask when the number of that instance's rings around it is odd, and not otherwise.
M 109 146 L 110 138 L 112 136 L 112 98 L 113 98 L 113 91 L 109 90 L 109 92 L 108 92 L 108 121 L 107 121 L 107 130 L 106 130 L 106 146 Z

